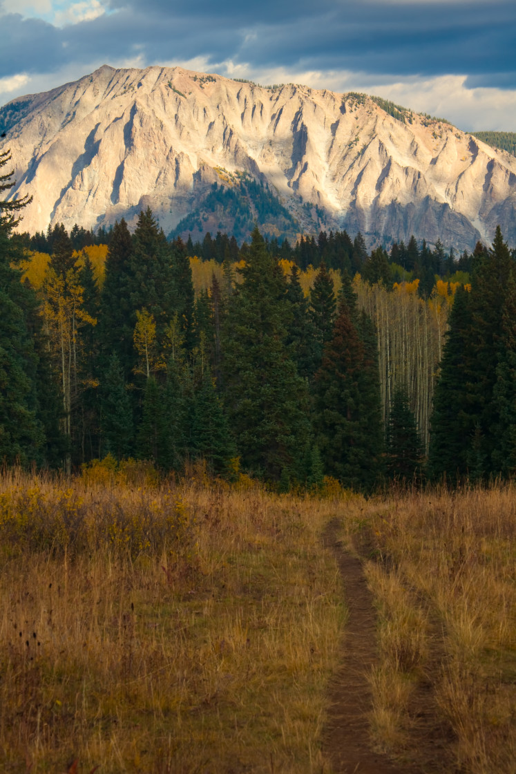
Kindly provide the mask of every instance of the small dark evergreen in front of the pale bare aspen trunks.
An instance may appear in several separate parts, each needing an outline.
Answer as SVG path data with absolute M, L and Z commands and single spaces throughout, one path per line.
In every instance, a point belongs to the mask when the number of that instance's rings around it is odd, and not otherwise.
M 421 470 L 422 444 L 406 389 L 395 390 L 386 430 L 387 474 L 397 481 L 414 481 Z

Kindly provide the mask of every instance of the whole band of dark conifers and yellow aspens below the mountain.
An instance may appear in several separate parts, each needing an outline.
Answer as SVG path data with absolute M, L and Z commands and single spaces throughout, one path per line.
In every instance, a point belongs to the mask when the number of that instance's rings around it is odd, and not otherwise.
M 511 478 L 516 279 L 499 228 L 460 256 L 415 238 L 369 253 L 345 231 L 185 243 L 149 209 L 133 233 L 31 236 L 15 232 L 23 204 L 0 201 L 5 464 L 202 462 L 281 491 Z

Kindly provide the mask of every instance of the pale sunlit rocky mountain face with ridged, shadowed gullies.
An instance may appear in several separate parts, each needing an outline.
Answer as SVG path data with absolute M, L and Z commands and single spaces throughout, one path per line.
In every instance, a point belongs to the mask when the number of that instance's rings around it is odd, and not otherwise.
M 499 223 L 516 243 L 516 158 L 422 115 L 399 121 L 364 95 L 104 66 L 12 101 L 0 122 L 12 194 L 33 196 L 24 231 L 131 222 L 149 205 L 168 232 L 214 182 L 248 173 L 300 228 L 463 249 L 490 243 Z

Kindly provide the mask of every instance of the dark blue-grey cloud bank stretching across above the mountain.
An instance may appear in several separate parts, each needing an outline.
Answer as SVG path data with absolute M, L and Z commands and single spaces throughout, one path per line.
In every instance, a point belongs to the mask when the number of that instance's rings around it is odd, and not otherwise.
M 0 74 L 67 63 L 205 57 L 251 68 L 353 70 L 378 77 L 465 74 L 467 84 L 516 87 L 516 4 L 287 0 L 111 0 L 111 14 L 56 29 L 0 17 Z

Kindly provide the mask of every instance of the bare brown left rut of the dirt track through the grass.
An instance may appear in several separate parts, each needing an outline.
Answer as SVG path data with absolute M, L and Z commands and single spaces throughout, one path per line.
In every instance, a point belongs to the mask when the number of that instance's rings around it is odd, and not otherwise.
M 367 588 L 361 560 L 353 557 L 337 540 L 339 522 L 333 519 L 323 535 L 333 549 L 343 577 L 349 610 L 342 666 L 330 686 L 330 719 L 323 747 L 334 774 L 420 774 L 421 769 L 396 765 L 371 749 L 367 713 L 371 690 L 367 674 L 376 661 L 376 613 Z

